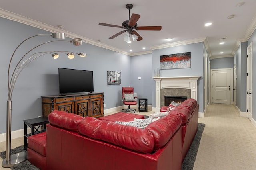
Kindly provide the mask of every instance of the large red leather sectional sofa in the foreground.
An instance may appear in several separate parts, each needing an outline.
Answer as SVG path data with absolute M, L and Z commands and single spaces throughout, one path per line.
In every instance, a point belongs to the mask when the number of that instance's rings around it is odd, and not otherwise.
M 143 117 L 119 112 L 96 119 L 53 111 L 46 125 L 46 162 L 33 162 L 47 170 L 181 170 L 198 126 L 196 100 L 184 101 L 145 129 L 114 122 L 133 118 Z M 33 153 L 42 159 L 34 143 L 28 142 L 28 158 Z

